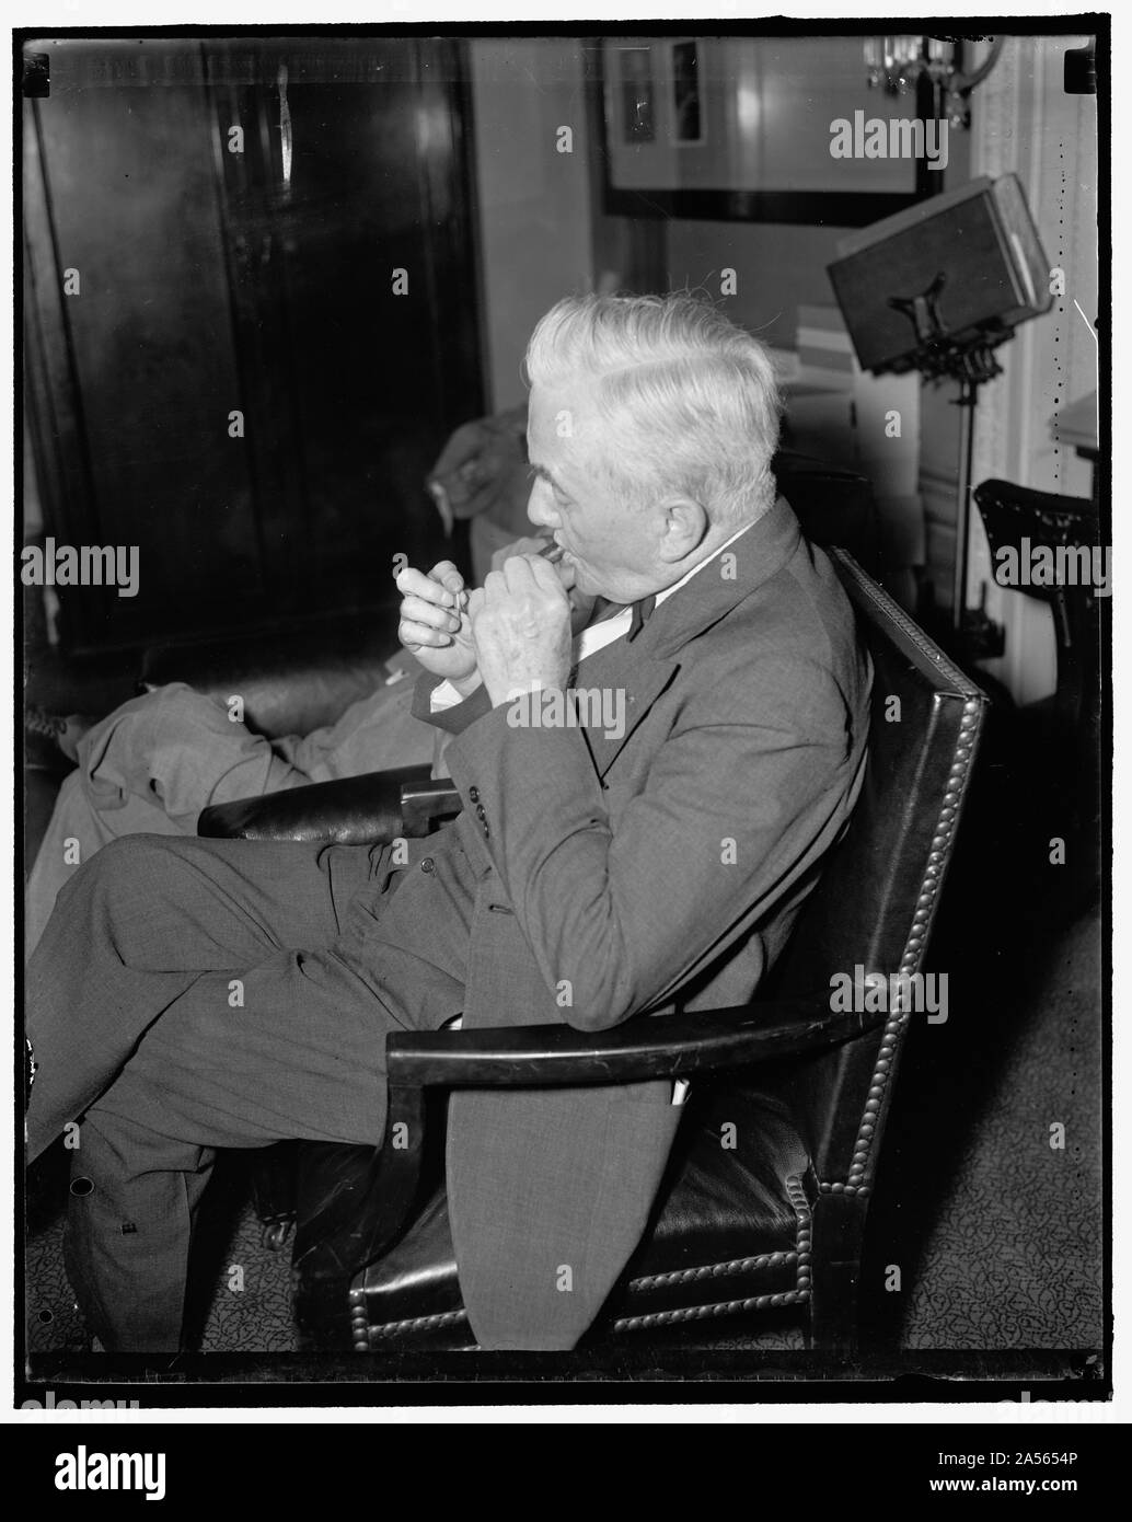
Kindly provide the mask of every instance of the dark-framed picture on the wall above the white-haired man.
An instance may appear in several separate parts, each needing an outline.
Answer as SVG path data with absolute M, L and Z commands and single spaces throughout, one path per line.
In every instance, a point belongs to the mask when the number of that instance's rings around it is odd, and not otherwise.
M 931 88 L 870 90 L 860 37 L 595 47 L 607 212 L 864 227 L 942 189 Z

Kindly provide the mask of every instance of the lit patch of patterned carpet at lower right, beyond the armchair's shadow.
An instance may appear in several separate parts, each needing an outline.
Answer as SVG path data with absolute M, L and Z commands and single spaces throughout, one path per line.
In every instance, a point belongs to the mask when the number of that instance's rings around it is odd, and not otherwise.
M 1102 1345 L 1102 1093 L 1089 918 L 1051 948 L 1041 1006 L 995 1061 L 969 1128 L 957 1106 L 954 1175 L 907 1289 L 905 1347 Z M 1064 1149 L 1050 1146 L 1053 1125 Z

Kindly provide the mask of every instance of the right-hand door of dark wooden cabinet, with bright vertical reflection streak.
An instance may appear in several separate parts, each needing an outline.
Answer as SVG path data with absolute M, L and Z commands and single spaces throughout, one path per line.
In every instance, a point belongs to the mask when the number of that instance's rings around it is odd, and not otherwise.
M 250 449 L 280 595 L 367 607 L 440 552 L 424 473 L 479 409 L 453 44 L 207 44 Z M 298 472 L 291 475 L 292 455 Z

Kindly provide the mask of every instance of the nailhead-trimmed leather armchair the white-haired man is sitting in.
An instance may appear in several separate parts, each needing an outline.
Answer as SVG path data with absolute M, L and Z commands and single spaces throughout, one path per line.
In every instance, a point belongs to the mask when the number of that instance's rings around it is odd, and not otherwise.
M 901 1049 L 910 1021 L 927 1018 L 892 997 L 893 976 L 924 973 L 986 699 L 849 554 L 831 554 L 876 670 L 870 756 L 851 826 L 758 1000 L 596 1035 L 391 1035 L 386 1143 L 397 1134 L 409 1145 L 298 1149 L 294 1262 L 307 1345 L 473 1345 L 440 1166 L 446 1090 L 683 1076 L 691 1093 L 653 1216 L 587 1341 L 773 1310 L 800 1320 L 819 1347 L 852 1350 Z M 399 796 L 400 833 L 458 807 L 450 787 L 377 775 L 207 810 L 201 831 L 388 839 Z M 852 1012 L 832 1008 L 834 974 L 854 982 Z

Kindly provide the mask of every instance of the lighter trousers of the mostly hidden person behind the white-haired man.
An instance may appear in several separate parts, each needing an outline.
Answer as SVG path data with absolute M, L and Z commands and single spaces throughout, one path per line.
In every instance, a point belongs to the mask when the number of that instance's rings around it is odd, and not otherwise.
M 202 808 L 307 782 L 426 764 L 435 732 L 412 717 L 415 662 L 309 735 L 265 740 L 219 699 L 183 682 L 134 697 L 88 731 L 64 781 L 27 883 L 26 948 L 59 889 L 120 836 L 192 836 Z

